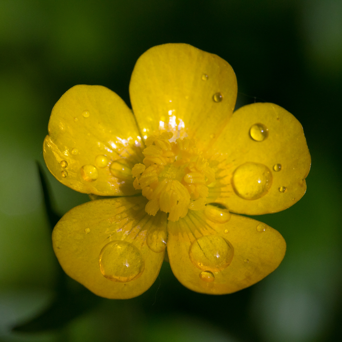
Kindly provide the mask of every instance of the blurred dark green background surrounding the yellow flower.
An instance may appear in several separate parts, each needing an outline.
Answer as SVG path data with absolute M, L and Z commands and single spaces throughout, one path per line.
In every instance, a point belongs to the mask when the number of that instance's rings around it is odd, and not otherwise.
M 287 242 L 259 284 L 198 294 L 164 263 L 140 297 L 107 300 L 66 277 L 54 256 L 54 219 L 89 199 L 50 175 L 42 142 L 73 85 L 107 86 L 129 104 L 135 61 L 163 43 L 226 59 L 236 108 L 273 102 L 298 118 L 312 156 L 308 190 L 256 218 Z M 341 93 L 341 0 L 0 0 L 0 341 L 339 340 Z M 47 214 L 38 165 L 57 216 Z

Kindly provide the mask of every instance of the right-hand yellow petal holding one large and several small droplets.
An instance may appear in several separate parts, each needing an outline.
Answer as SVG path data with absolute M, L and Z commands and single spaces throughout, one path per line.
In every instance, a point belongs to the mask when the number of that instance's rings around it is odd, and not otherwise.
M 207 203 L 239 214 L 284 210 L 305 193 L 310 154 L 299 121 L 284 108 L 255 103 L 237 110 L 213 150 L 216 182 Z

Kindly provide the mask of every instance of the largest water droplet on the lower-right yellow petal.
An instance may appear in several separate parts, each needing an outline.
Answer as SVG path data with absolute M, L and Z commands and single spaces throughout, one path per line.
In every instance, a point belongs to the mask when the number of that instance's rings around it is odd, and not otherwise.
M 202 271 L 219 272 L 227 268 L 233 258 L 234 249 L 223 237 L 205 235 L 190 247 L 191 262 Z

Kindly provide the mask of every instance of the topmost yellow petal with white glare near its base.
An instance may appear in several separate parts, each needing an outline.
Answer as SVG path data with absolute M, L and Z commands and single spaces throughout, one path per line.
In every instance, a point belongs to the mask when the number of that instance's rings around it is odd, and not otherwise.
M 207 146 L 235 106 L 236 77 L 224 59 L 187 44 L 151 48 L 136 62 L 129 93 L 143 135 L 169 130 Z

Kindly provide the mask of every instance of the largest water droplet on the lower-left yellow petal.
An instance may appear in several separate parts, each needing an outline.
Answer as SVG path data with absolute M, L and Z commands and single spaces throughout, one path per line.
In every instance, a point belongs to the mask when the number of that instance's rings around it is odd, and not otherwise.
M 107 243 L 101 250 L 99 262 L 102 275 L 119 283 L 139 277 L 145 268 L 139 249 L 126 241 Z

